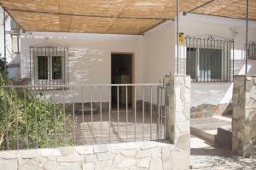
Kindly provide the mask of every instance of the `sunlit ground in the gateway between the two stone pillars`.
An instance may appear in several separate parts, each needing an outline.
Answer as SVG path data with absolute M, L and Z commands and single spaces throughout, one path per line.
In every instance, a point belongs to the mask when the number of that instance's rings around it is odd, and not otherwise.
M 233 156 L 229 150 L 224 150 L 204 140 L 191 138 L 191 169 L 213 170 L 256 170 L 256 159 Z

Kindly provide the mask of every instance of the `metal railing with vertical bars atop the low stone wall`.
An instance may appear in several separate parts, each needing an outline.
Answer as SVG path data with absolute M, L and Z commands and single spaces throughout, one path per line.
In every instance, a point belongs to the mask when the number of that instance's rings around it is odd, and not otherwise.
M 2 150 L 166 138 L 165 86 L 0 87 Z

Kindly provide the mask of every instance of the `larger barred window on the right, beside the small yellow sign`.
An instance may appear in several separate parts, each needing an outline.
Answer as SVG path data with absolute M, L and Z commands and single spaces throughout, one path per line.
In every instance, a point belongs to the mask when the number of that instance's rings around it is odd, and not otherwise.
M 232 82 L 234 41 L 185 37 L 186 74 L 193 82 Z

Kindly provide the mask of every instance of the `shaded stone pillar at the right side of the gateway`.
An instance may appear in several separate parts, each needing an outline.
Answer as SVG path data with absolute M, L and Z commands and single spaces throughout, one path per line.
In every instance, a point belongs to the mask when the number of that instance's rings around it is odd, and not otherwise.
M 234 77 L 232 107 L 232 150 L 249 157 L 256 139 L 256 76 Z

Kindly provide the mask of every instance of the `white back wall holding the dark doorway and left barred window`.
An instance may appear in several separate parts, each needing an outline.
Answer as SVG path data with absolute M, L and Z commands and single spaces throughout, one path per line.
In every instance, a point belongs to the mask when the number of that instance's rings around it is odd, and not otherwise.
M 142 36 L 27 32 L 20 42 L 21 77 L 30 75 L 30 47 L 67 47 L 70 84 L 110 83 L 112 52 L 133 53 L 135 82 L 143 82 Z

